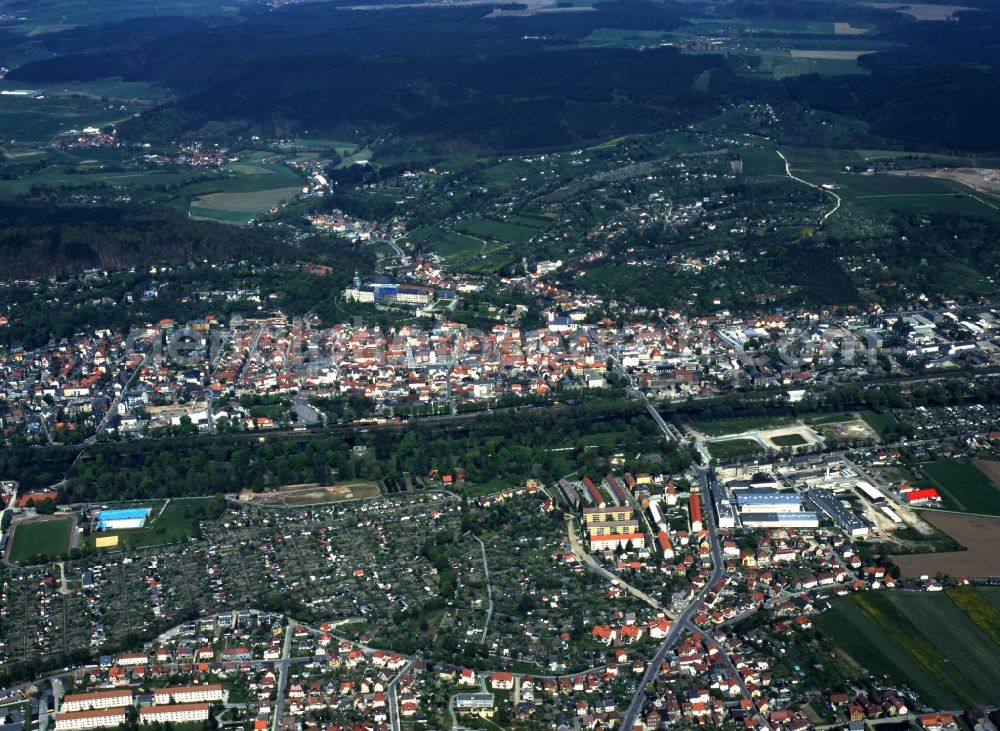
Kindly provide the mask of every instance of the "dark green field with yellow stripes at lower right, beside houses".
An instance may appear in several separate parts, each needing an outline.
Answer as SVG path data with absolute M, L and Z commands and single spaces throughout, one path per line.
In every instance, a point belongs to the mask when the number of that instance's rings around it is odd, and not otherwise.
M 837 598 L 815 623 L 856 662 L 907 683 L 932 706 L 960 708 L 1000 697 L 1000 646 L 944 594 Z

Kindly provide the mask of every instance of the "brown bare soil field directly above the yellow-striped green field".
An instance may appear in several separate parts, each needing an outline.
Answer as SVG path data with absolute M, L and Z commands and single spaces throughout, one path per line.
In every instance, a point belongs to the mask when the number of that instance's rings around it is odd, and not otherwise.
M 920 517 L 969 550 L 893 556 L 892 560 L 899 566 L 903 576 L 912 578 L 934 576 L 937 573 L 970 579 L 1000 576 L 1000 542 L 997 541 L 1000 518 L 935 510 L 925 510 Z

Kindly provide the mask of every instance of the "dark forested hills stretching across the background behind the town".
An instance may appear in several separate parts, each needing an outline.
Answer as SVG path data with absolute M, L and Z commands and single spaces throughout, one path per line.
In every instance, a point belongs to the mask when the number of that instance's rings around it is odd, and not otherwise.
M 352 4 L 330 0 L 225 20 L 136 20 L 45 34 L 24 40 L 20 50 L 44 60 L 7 78 L 41 86 L 122 77 L 168 87 L 176 101 L 122 125 L 123 137 L 134 141 L 360 133 L 450 150 L 565 149 L 697 122 L 734 101 L 755 101 L 863 122 L 852 140 L 859 146 L 1000 150 L 991 134 L 1000 116 L 1000 12 L 991 7 L 961 11 L 959 22 L 922 23 L 865 3 L 822 1 L 614 0 L 586 12 L 523 17 L 497 16 L 486 5 Z M 823 75 L 769 78 L 748 73 L 759 62 L 749 52 L 593 44 L 601 29 L 657 38 L 697 16 L 720 28 L 734 19 L 752 25 L 759 18 L 835 18 L 867 25 L 848 40 L 869 45 L 855 73 L 827 66 Z M 848 43 L 831 38 L 838 48 Z M 809 43 L 804 35 L 793 41 Z

